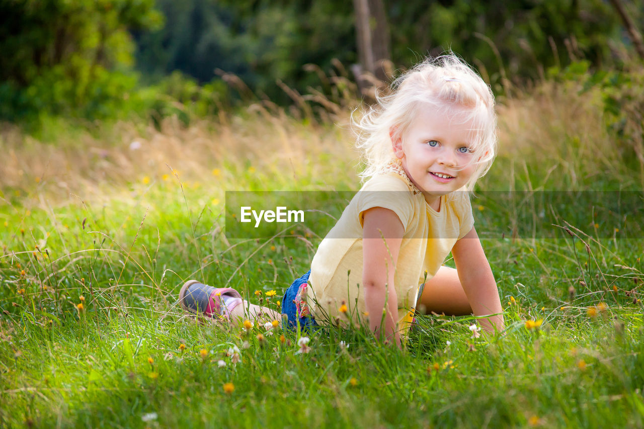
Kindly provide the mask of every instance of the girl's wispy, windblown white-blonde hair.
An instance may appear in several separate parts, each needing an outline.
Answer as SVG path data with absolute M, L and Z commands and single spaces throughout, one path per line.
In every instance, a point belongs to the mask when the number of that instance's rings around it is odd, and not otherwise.
M 454 53 L 431 58 L 416 64 L 393 81 L 388 95 L 378 95 L 358 121 L 355 146 L 361 150 L 365 181 L 379 173 L 395 156 L 392 138 L 404 135 L 421 106 L 437 111 L 453 111 L 463 122 L 473 122 L 475 173 L 466 187 L 472 190 L 477 180 L 488 172 L 497 153 L 497 115 L 494 95 L 489 86 L 469 65 Z M 390 135 L 390 132 L 392 135 Z

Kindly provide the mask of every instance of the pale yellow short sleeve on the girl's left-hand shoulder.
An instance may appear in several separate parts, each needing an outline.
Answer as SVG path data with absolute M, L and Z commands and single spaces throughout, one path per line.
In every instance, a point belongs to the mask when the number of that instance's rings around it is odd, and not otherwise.
M 413 194 L 403 180 L 394 175 L 375 176 L 358 191 L 357 213 L 361 227 L 365 224 L 365 211 L 374 207 L 393 211 L 407 231 L 413 218 Z

